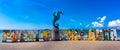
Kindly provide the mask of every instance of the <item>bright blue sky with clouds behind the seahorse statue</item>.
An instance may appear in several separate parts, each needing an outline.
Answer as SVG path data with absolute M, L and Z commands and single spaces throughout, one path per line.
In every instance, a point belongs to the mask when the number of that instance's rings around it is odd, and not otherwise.
M 118 0 L 0 0 L 0 29 L 52 29 L 61 10 L 60 28 L 120 26 Z

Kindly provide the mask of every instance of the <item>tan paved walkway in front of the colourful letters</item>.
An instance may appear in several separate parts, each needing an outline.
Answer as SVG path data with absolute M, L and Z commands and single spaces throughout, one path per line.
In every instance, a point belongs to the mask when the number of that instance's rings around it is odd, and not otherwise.
M 120 41 L 0 42 L 0 50 L 120 50 Z

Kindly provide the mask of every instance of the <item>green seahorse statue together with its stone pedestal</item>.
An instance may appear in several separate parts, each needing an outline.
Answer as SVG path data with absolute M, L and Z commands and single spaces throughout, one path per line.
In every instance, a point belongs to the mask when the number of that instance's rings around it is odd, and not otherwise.
M 59 36 L 59 24 L 56 22 L 60 19 L 60 14 L 63 14 L 62 11 L 54 12 L 53 16 L 53 37 L 52 40 L 59 41 L 60 36 Z

